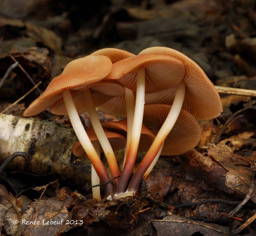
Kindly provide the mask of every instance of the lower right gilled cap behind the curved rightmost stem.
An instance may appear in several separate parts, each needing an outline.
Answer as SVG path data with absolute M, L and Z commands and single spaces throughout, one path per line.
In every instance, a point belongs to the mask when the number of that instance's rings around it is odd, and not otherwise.
M 164 104 L 145 105 L 143 123 L 157 135 L 172 106 Z M 187 111 L 181 110 L 172 130 L 164 141 L 161 155 L 180 155 L 193 149 L 201 138 L 198 121 Z

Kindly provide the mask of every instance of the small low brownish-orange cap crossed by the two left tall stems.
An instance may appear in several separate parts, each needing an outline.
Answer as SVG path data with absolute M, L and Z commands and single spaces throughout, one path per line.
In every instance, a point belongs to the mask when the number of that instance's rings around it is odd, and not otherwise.
M 111 132 L 110 130 L 107 130 L 104 128 L 103 128 L 103 130 L 104 130 L 104 132 L 108 138 L 108 141 L 109 141 L 114 152 L 118 151 L 120 149 L 123 149 L 125 147 L 126 139 L 123 135 L 121 135 L 120 133 Z M 88 130 L 86 130 L 86 133 L 87 133 L 89 139 L 91 140 L 91 142 L 98 140 L 98 138 L 95 134 L 95 131 L 92 127 L 90 127 Z M 76 157 L 79 157 L 79 158 L 87 157 L 86 152 L 84 151 L 80 142 L 77 142 L 74 145 L 72 152 Z M 103 150 L 100 147 L 100 153 L 102 153 L 102 152 L 103 152 Z

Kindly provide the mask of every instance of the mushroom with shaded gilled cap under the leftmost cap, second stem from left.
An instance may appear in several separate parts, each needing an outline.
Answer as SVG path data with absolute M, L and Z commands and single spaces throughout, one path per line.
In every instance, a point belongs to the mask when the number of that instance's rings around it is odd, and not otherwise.
M 88 87 L 81 88 L 80 90 L 76 90 L 71 93 L 77 112 L 80 113 L 87 110 L 89 113 L 92 127 L 95 130 L 99 143 L 101 144 L 107 158 L 112 178 L 119 176 L 120 172 L 114 152 L 101 127 L 95 107 L 105 103 L 113 97 L 120 96 L 123 93 L 124 88 L 120 84 L 105 80 L 101 80 L 89 85 Z M 64 100 L 61 99 L 57 103 L 53 104 L 51 112 L 53 114 L 66 115 L 67 110 L 65 108 Z M 113 182 L 116 186 L 118 183 L 118 178 L 113 179 Z

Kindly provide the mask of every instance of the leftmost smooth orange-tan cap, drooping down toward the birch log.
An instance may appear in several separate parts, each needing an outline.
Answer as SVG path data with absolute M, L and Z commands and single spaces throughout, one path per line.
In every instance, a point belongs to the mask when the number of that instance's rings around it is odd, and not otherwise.
M 66 90 L 79 90 L 105 78 L 112 69 L 112 62 L 106 56 L 87 56 L 71 61 L 61 75 L 55 77 L 44 93 L 33 101 L 23 113 L 36 115 L 50 108 L 62 98 Z

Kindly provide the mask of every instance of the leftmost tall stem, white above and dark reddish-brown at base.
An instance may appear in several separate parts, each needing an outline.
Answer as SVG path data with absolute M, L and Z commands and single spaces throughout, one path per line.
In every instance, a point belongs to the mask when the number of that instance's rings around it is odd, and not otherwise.
M 108 173 L 101 162 L 101 159 L 99 158 L 97 152 L 95 151 L 94 147 L 92 146 L 92 143 L 87 135 L 87 133 L 84 130 L 83 124 L 79 118 L 79 115 L 76 111 L 75 104 L 73 102 L 70 90 L 66 90 L 62 92 L 62 96 L 64 99 L 64 103 L 67 109 L 67 114 L 69 116 L 70 122 L 73 126 L 73 129 L 76 133 L 76 136 L 78 140 L 80 141 L 83 149 L 85 150 L 88 158 L 92 162 L 92 165 L 95 168 L 95 171 L 97 172 L 98 176 L 100 177 L 101 182 L 107 182 L 109 181 Z M 106 193 L 114 194 L 114 188 L 112 183 L 108 183 L 105 186 Z

